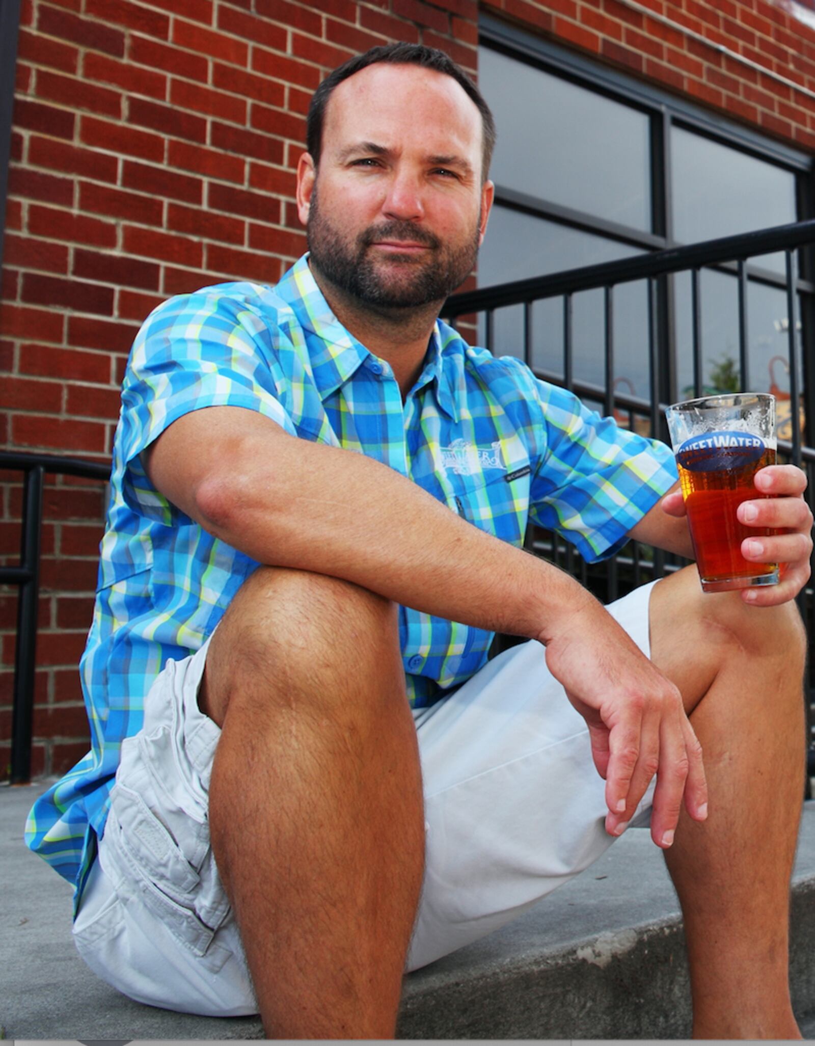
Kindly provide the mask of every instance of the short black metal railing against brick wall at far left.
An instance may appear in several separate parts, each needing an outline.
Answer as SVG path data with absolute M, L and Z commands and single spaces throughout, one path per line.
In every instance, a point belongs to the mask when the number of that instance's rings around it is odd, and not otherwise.
M 13 585 L 18 589 L 10 782 L 24 784 L 31 776 L 31 729 L 45 476 L 46 474 L 80 476 L 84 479 L 107 481 L 110 477 L 110 464 L 47 454 L 0 451 L 0 469 L 23 473 L 20 562 L 14 567 L 0 566 L 0 585 Z

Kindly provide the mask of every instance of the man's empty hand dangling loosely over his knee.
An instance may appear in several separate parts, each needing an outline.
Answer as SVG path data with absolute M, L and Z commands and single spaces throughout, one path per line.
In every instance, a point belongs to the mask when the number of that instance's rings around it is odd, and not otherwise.
M 651 835 L 669 847 L 683 803 L 695 820 L 707 816 L 702 749 L 679 690 L 588 594 L 545 642 L 549 670 L 589 728 L 606 831 L 625 832 L 656 775 Z

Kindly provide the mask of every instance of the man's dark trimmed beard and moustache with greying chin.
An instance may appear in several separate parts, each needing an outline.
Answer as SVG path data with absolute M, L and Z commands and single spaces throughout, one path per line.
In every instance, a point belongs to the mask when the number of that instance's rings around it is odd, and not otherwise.
M 364 229 L 354 242 L 321 213 L 315 186 L 307 236 L 311 262 L 340 291 L 358 301 L 381 309 L 415 309 L 444 301 L 472 272 L 478 254 L 480 214 L 472 238 L 450 248 L 412 222 L 392 220 Z M 376 265 L 370 245 L 382 241 L 408 241 L 430 249 L 430 258 L 390 255 Z

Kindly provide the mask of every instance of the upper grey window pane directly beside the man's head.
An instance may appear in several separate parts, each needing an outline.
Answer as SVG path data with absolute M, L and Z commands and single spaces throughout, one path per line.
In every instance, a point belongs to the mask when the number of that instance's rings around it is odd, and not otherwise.
M 648 116 L 485 47 L 478 87 L 498 129 L 497 185 L 651 230 Z

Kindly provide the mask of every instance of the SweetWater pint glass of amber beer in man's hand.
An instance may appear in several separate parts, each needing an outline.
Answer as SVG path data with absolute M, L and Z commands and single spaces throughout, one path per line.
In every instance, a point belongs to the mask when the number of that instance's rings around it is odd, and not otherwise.
M 776 585 L 777 564 L 750 563 L 741 552 L 745 538 L 775 531 L 735 517 L 743 501 L 763 497 L 755 473 L 775 464 L 775 397 L 738 392 L 677 403 L 667 427 L 703 590 Z

